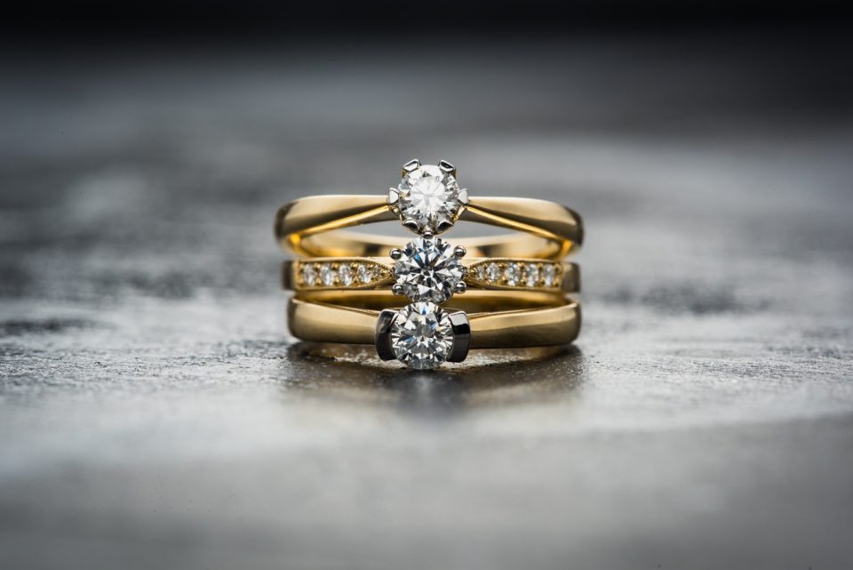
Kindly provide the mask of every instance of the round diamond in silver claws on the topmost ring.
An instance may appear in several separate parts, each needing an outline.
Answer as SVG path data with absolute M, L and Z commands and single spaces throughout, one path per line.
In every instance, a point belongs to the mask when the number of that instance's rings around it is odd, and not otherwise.
M 406 173 L 396 194 L 400 218 L 415 221 L 421 233 L 448 229 L 467 200 L 456 177 L 434 165 L 419 166 Z

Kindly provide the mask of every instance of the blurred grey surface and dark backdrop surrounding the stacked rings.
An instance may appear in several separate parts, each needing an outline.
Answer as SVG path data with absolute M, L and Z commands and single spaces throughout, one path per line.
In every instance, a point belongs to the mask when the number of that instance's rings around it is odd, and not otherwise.
M 0 567 L 850 567 L 849 23 L 15 6 Z M 277 207 L 411 157 L 584 216 L 576 346 L 410 373 L 289 336 Z

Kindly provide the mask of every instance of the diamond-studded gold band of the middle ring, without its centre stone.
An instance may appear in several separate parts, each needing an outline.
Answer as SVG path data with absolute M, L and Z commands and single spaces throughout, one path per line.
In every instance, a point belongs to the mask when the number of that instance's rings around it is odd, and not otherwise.
M 469 289 L 578 293 L 577 263 L 530 259 L 465 259 Z M 506 269 L 514 269 L 514 278 Z M 282 286 L 293 291 L 388 288 L 395 283 L 394 262 L 377 257 L 327 257 L 282 264 Z

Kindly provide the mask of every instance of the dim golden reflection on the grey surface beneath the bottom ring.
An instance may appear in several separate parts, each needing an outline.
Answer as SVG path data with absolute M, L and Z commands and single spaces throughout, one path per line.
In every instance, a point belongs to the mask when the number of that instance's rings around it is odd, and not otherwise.
M 575 346 L 492 349 L 472 350 L 464 363 L 416 371 L 380 361 L 371 346 L 298 342 L 288 349 L 285 367 L 289 389 L 434 414 L 564 395 L 580 383 L 585 363 Z

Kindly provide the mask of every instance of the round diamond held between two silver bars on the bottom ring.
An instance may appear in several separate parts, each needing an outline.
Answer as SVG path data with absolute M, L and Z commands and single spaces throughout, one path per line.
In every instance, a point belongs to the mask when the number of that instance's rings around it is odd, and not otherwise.
M 453 348 L 450 317 L 430 302 L 403 307 L 391 325 L 391 348 L 400 362 L 416 370 L 441 365 Z

